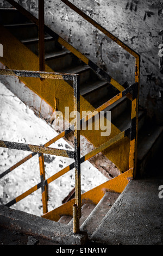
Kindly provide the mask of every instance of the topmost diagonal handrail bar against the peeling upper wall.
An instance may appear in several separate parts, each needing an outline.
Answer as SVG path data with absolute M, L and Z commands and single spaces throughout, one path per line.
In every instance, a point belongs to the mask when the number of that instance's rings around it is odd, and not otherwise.
M 131 55 L 133 55 L 134 57 L 139 56 L 139 54 L 137 52 L 135 52 L 133 49 L 131 49 L 129 46 L 127 46 L 126 44 L 124 44 L 124 42 L 122 42 L 120 39 L 118 39 L 115 35 L 111 34 L 109 31 L 107 31 L 104 27 L 102 27 L 101 25 L 99 25 L 96 21 L 94 21 L 93 19 L 91 19 L 90 16 L 88 16 L 87 14 L 85 14 L 82 10 L 80 10 L 78 7 L 76 7 L 76 5 L 72 4 L 70 1 L 68 0 L 61 0 L 61 2 L 65 3 L 68 7 L 70 7 L 72 10 L 76 11 L 76 13 L 78 13 L 80 16 L 82 16 L 85 20 L 87 20 L 88 22 L 90 22 L 94 27 L 98 28 L 99 31 L 103 32 L 106 36 L 108 36 L 111 40 L 115 41 L 118 45 L 120 45 L 124 50 L 126 50 L 127 52 L 129 52 Z

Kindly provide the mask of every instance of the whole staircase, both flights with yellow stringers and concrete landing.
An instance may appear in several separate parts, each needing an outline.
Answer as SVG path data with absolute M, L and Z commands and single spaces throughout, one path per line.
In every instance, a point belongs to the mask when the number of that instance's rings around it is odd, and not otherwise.
M 4 67 L 8 69 L 38 70 L 39 39 L 37 26 L 14 8 L 0 9 L 0 24 L 2 31 L 0 42 L 3 42 L 4 45 L 4 57 L 0 57 L 0 62 Z M 57 40 L 57 35 L 54 37 L 45 30 L 46 71 L 79 74 L 81 111 L 93 111 L 118 94 L 118 89 L 106 82 L 103 77 L 97 75 L 89 65 L 86 65 L 80 58 L 75 56 L 70 49 L 68 50 L 66 47 L 62 46 Z M 3 77 L 1 77 L 1 81 L 3 81 Z M 70 105 L 71 111 L 73 106 L 71 82 L 64 81 L 63 84 L 55 82 L 55 88 L 51 81 L 44 83 L 43 88 L 41 87 L 40 80 L 37 80 L 34 84 L 32 79 L 23 78 L 22 82 L 32 92 L 39 95 L 53 110 L 57 109 L 63 111 L 65 106 Z M 128 85 L 124 84 L 123 86 L 125 88 Z M 9 88 L 9 86 L 7 87 Z M 10 89 L 14 91 L 15 94 L 17 93 L 23 100 L 23 91 L 18 93 L 16 92 L 17 89 L 15 90 L 12 87 L 10 87 Z M 51 92 L 50 95 L 48 95 L 49 92 Z M 128 97 L 122 97 L 122 99 L 105 108 L 104 111 L 105 118 L 106 111 L 111 111 L 111 137 L 114 137 L 121 131 L 130 127 L 131 101 Z M 52 125 L 50 119 L 47 119 L 47 122 Z M 106 137 L 101 137 L 100 132 L 101 131 L 81 131 L 82 136 L 84 136 L 87 142 L 94 148 L 104 143 L 107 139 Z M 65 137 L 68 142 L 73 144 L 72 138 L 73 135 Z M 163 127 L 151 123 L 146 116 L 145 109 L 139 109 L 137 144 L 137 173 L 139 178 L 142 176 L 148 177 L 148 168 L 158 153 L 162 141 Z M 27 222 L 24 225 L 24 233 L 46 237 L 46 239 L 53 240 L 59 245 L 81 245 L 85 244 L 88 241 L 87 239 L 106 245 L 141 244 L 141 242 L 145 244 L 162 244 L 162 238 L 158 238 L 161 237 L 162 228 L 159 230 L 155 228 L 158 227 L 160 223 L 156 223 L 152 218 L 152 214 L 155 214 L 155 209 L 151 215 L 148 215 L 148 220 L 151 220 L 148 224 L 150 225 L 150 223 L 152 223 L 152 231 L 155 230 L 156 239 L 152 240 L 151 238 L 151 241 L 150 239 L 142 239 L 142 241 L 140 239 L 136 240 L 135 237 L 137 237 L 137 233 L 130 237 L 131 230 L 136 230 L 136 218 L 138 217 L 134 212 L 136 208 L 140 208 L 140 226 L 141 229 L 145 229 L 145 223 L 143 223 L 145 216 L 143 216 L 142 213 L 144 201 L 141 200 L 143 194 L 140 199 L 136 197 L 138 192 L 143 186 L 145 188 L 146 199 L 147 197 L 153 197 L 152 191 L 150 189 L 148 190 L 148 188 L 152 186 L 153 190 L 156 191 L 160 181 L 156 180 L 154 182 L 147 180 L 146 183 L 145 181 L 132 180 L 131 172 L 128 170 L 129 144 L 129 138 L 125 137 L 120 143 L 112 146 L 109 150 L 104 150 L 96 159 L 91 160 L 91 163 L 94 164 L 95 160 L 98 161 L 95 166 L 109 178 L 109 183 L 108 185 L 101 185 L 95 188 L 95 190 L 86 192 L 83 195 L 80 234 L 74 235 L 72 233 L 73 196 L 68 202 L 61 205 L 60 208 L 55 209 L 55 213 L 54 211 L 48 212 L 42 216 L 41 220 L 36 216 L 25 216 L 26 214 L 20 211 L 17 211 L 18 217 L 16 217 L 14 210 L 1 206 L 0 220 L 3 223 L 2 227 L 9 228 L 8 223 L 12 223 L 12 226 L 15 226 L 17 231 L 23 230 L 21 219 L 26 218 Z M 83 153 L 85 153 L 85 144 L 82 150 Z M 143 191 L 141 193 L 143 193 Z M 97 194 L 99 194 L 99 196 L 97 196 Z M 133 198 L 135 198 L 135 200 Z M 156 208 L 156 202 L 158 202 L 158 200 L 154 197 L 152 200 L 152 202 L 155 202 Z M 132 206 L 132 209 L 129 209 L 129 205 Z M 162 209 L 160 201 L 159 205 L 160 209 Z M 147 209 L 149 208 L 151 208 L 151 204 L 147 206 Z M 126 215 L 127 220 L 125 218 Z M 39 230 L 34 223 L 32 227 L 29 227 L 29 223 L 32 223 L 32 218 L 34 222 L 38 222 L 39 225 L 42 225 L 41 230 Z M 134 221 L 135 224 L 133 224 Z M 128 226 L 128 230 L 126 230 L 126 225 Z M 120 231 L 121 235 L 117 233 L 117 230 Z M 125 236 L 122 235 L 123 231 L 126 232 Z M 146 233 L 143 233 L 142 237 L 148 234 L 148 230 L 145 229 L 145 231 Z M 126 238 L 124 239 L 124 237 Z M 130 240 L 129 237 L 131 238 Z

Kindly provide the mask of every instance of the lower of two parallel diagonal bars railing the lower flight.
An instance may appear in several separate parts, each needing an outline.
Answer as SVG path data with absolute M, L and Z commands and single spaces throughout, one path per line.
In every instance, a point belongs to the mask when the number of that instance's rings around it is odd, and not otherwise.
M 89 160 L 92 156 L 95 156 L 96 154 L 98 154 L 99 152 L 101 152 L 102 150 L 110 147 L 112 144 L 120 141 L 122 138 L 128 136 L 130 133 L 130 127 L 119 133 L 118 135 L 116 135 L 115 137 L 109 139 L 108 142 L 105 142 L 104 144 L 102 144 L 101 146 L 99 146 L 96 149 L 93 149 L 90 153 L 86 154 L 85 156 L 82 156 L 80 158 L 80 163 L 85 162 L 86 160 Z M 47 180 L 44 181 L 44 186 L 50 184 L 52 181 L 58 179 L 60 176 L 64 175 L 65 173 L 69 172 L 70 170 L 72 170 L 74 168 L 74 162 L 71 163 L 69 166 L 65 167 L 64 169 L 60 170 L 58 173 L 55 173 L 54 175 L 52 175 L 51 177 L 49 177 Z M 16 197 L 15 199 L 11 200 L 9 203 L 5 204 L 5 206 L 11 206 L 17 202 L 19 202 L 20 200 L 22 200 L 23 198 L 29 196 L 29 194 L 33 193 L 34 191 L 38 190 L 41 187 L 41 182 L 38 183 L 37 185 L 35 185 L 34 187 L 30 188 L 28 191 L 22 193 L 20 196 Z

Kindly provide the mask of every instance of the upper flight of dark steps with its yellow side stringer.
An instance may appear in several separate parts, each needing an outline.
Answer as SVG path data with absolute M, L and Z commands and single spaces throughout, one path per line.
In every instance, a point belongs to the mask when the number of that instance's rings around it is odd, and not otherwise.
M 1 57 L 1 62 L 9 69 L 38 70 L 39 52 L 37 26 L 34 23 L 30 22 L 26 17 L 24 17 L 14 8 L 1 9 L 0 14 L 1 24 L 3 25 L 3 27 L 1 28 L 1 41 L 4 41 L 4 57 Z M 9 38 L 11 39 L 8 40 Z M 10 44 L 10 41 L 12 42 L 12 44 Z M 17 44 L 16 48 L 14 47 L 15 44 Z M 9 50 L 11 53 L 9 53 Z M 5 58 L 5 56 L 8 57 Z M 86 65 L 72 52 L 68 51 L 67 48 L 59 44 L 57 39 L 53 38 L 46 31 L 45 60 L 47 71 L 58 71 L 80 75 L 81 111 L 92 111 L 93 109 L 101 106 L 102 103 L 111 99 L 119 92 L 116 88 L 111 86 L 111 84 L 106 82 L 104 78 L 98 76 L 96 72 L 90 68 L 89 65 Z M 32 89 L 34 93 L 36 93 L 43 100 L 45 100 L 53 109 L 57 108 L 59 111 L 62 111 L 64 113 L 64 106 L 72 106 L 73 98 L 71 95 L 71 88 L 68 87 L 67 82 L 64 84 L 64 86 L 61 86 L 60 92 L 63 92 L 59 95 L 59 88 L 51 88 L 51 84 L 48 84 L 49 81 L 46 81 L 47 90 L 45 88 L 40 88 L 41 86 L 39 84 L 39 81 L 37 81 L 37 87 L 35 86 L 35 84 L 27 79 L 22 79 L 22 81 L 26 84 L 27 87 Z M 126 85 L 124 85 L 124 87 L 126 87 Z M 10 89 L 14 90 L 14 88 L 12 88 L 11 86 Z M 21 88 L 19 88 L 19 90 L 21 90 Z M 47 91 L 51 91 L 52 97 L 51 95 L 47 95 Z M 16 92 L 17 88 L 14 93 Z M 22 97 L 22 99 L 23 93 L 24 92 L 22 91 L 20 95 L 18 95 Z M 58 100 L 58 106 L 56 105 L 57 103 L 55 99 Z M 105 116 L 106 111 L 111 111 L 110 138 L 130 126 L 131 102 L 126 96 L 122 97 L 122 99 L 116 101 L 114 104 L 104 109 L 104 111 Z M 146 127 L 148 127 L 148 135 L 146 132 Z M 143 172 L 145 171 L 147 165 L 145 157 L 148 156 L 148 153 L 149 151 L 151 151 L 152 146 L 149 142 L 151 141 L 151 137 L 154 137 L 154 144 L 158 142 L 157 139 L 160 138 L 162 134 L 162 127 L 153 125 L 153 123 L 151 123 L 150 120 L 148 120 L 148 118 L 146 117 L 145 109 L 139 109 L 139 131 L 140 138 L 138 138 L 137 159 L 140 167 L 138 168 L 138 172 L 140 170 L 140 175 L 143 175 Z M 93 133 L 91 131 L 81 131 L 81 134 L 87 138 L 87 141 L 93 147 L 97 147 L 99 144 L 106 141 L 106 137 L 101 137 L 99 133 L 100 131 L 95 130 L 93 131 Z M 73 140 L 72 137 L 73 136 L 68 135 L 67 140 L 71 142 Z M 144 143 L 144 139 L 142 139 L 145 137 L 146 143 Z M 161 140 L 159 139 L 159 141 Z M 146 153 L 145 150 L 142 150 L 142 148 L 145 147 Z M 159 147 L 159 145 L 157 145 L 157 147 Z M 115 157 L 117 151 L 118 157 Z M 126 154 L 124 154 L 124 152 Z M 104 159 L 102 157 L 102 160 L 100 161 L 100 157 L 98 157 L 99 164 L 96 167 L 99 170 L 102 169 L 102 172 L 105 174 L 109 173 L 107 167 L 103 166 L 102 164 L 103 160 L 106 161 L 107 164 L 107 161 L 109 159 L 110 161 L 108 163 L 110 164 L 110 166 L 112 165 L 116 167 L 115 173 L 114 171 L 110 172 L 110 178 L 114 178 L 120 173 L 128 170 L 129 139 L 122 139 L 120 144 L 117 143 L 117 145 L 113 146 L 111 150 L 104 150 L 102 154 Z M 150 157 L 148 157 L 148 160 L 149 159 Z M 93 162 L 95 163 L 95 161 L 92 161 L 92 163 Z

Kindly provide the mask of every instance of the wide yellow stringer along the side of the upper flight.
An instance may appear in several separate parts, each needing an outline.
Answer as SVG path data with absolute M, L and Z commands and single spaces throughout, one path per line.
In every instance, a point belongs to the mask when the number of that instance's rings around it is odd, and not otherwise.
M 0 26 L 1 44 L 4 47 L 2 62 L 9 69 L 17 70 L 39 70 L 39 58 L 22 44 L 14 35 L 6 28 Z M 46 65 L 46 71 L 54 72 Z M 69 106 L 70 112 L 73 111 L 73 88 L 66 81 L 21 77 L 21 81 L 28 88 L 45 100 L 53 109 L 55 109 L 54 97 L 59 99 L 58 110 L 64 114 L 65 106 Z M 51 92 L 51 93 L 49 93 Z M 80 95 L 80 113 L 82 111 L 93 111 L 95 108 Z M 82 116 L 82 114 L 81 114 Z M 86 137 L 95 147 L 103 144 L 121 131 L 111 124 L 111 134 L 108 137 L 101 136 L 102 130 L 81 131 L 80 134 Z M 121 141 L 113 144 L 109 149 L 105 149 L 102 153 L 113 162 L 121 172 L 129 169 L 129 147 L 130 140 L 124 137 Z

